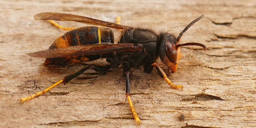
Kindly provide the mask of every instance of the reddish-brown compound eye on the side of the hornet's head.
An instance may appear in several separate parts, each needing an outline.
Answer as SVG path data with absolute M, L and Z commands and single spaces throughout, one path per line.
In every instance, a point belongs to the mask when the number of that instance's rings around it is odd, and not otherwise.
M 165 41 L 165 49 L 166 49 L 166 54 L 168 59 L 173 64 L 176 64 L 176 61 L 177 61 L 176 45 L 172 44 L 170 41 Z

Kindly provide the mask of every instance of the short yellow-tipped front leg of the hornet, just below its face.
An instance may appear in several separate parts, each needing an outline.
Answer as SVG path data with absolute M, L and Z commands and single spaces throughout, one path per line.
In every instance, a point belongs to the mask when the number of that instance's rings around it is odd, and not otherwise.
M 157 69 L 157 72 L 158 72 L 159 76 L 160 76 L 161 78 L 165 79 L 166 82 L 167 82 L 173 89 L 178 89 L 178 88 L 180 88 L 181 91 L 182 91 L 182 85 L 175 85 L 170 79 L 168 79 L 167 76 L 166 76 L 166 74 L 165 74 L 165 72 L 163 72 L 163 69 L 162 69 L 161 67 L 159 67 L 159 66 L 157 65 L 157 63 L 153 63 L 152 65 L 155 67 L 155 69 Z

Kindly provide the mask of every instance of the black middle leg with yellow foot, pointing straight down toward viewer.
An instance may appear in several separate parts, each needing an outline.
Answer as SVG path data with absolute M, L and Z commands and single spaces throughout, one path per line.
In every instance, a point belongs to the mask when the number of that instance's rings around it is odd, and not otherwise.
M 136 113 L 135 111 L 135 108 L 133 107 L 132 105 L 132 101 L 131 101 L 131 95 L 130 95 L 130 80 L 129 80 L 129 74 L 130 72 L 125 72 L 125 78 L 126 78 L 126 90 L 125 90 L 125 93 L 126 93 L 126 98 L 128 98 L 128 101 L 129 101 L 129 104 L 130 104 L 130 108 L 132 110 L 132 116 L 134 118 L 134 120 L 139 124 L 140 123 L 140 118 L 138 116 L 138 114 Z M 126 100 L 126 99 L 125 99 Z

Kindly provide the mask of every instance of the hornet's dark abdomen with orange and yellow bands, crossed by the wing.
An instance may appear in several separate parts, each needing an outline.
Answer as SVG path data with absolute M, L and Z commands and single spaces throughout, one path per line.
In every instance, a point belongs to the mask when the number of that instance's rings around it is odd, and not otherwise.
M 57 38 L 50 49 L 64 48 L 75 45 L 101 44 L 101 42 L 114 43 L 114 36 L 110 29 L 103 27 L 80 27 L 75 30 L 68 31 L 64 35 Z M 100 55 L 92 56 L 74 56 L 63 58 L 46 59 L 45 64 L 63 65 L 67 63 L 79 63 L 81 61 L 97 60 Z

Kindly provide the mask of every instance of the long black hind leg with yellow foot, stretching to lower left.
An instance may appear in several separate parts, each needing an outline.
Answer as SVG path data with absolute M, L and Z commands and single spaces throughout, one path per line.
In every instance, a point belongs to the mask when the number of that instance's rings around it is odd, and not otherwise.
M 47 89 L 45 89 L 43 91 L 40 91 L 38 93 L 35 93 L 33 95 L 30 95 L 29 97 L 20 98 L 18 101 L 20 101 L 20 103 L 23 103 L 24 101 L 29 101 L 30 99 L 33 99 L 33 98 L 37 97 L 38 95 L 45 94 L 47 91 L 56 87 L 60 83 L 63 83 L 63 84 L 67 83 L 70 80 L 72 80 L 72 79 L 76 78 L 77 76 L 81 75 L 84 71 L 86 71 L 88 69 L 93 69 L 94 71 L 105 73 L 106 71 L 108 71 L 110 69 L 110 66 L 107 65 L 105 67 L 101 67 L 101 66 L 96 66 L 96 65 L 89 65 L 87 67 L 84 67 L 84 68 L 80 69 L 77 72 L 74 72 L 73 74 L 65 76 L 64 79 L 59 80 L 58 82 L 52 84 L 52 86 L 48 87 Z

